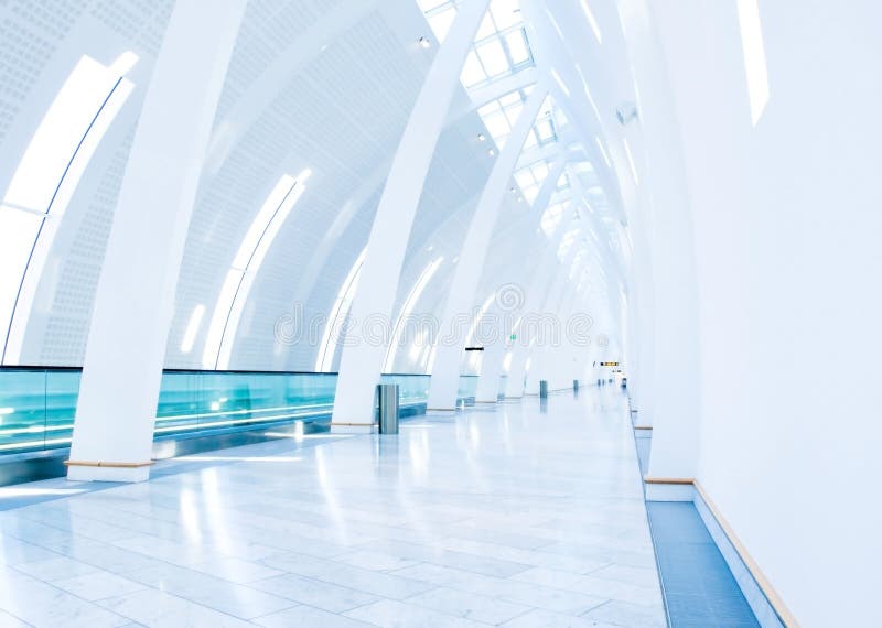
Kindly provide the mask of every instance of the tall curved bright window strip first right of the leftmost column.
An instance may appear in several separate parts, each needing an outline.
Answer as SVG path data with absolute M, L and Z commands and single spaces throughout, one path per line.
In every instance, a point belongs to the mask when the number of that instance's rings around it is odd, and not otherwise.
M 229 366 L 233 342 L 254 278 L 286 218 L 305 192 L 303 184 L 311 174 L 306 169 L 297 178 L 290 174 L 282 175 L 245 234 L 212 315 L 202 356 L 205 368 L 226 369 Z

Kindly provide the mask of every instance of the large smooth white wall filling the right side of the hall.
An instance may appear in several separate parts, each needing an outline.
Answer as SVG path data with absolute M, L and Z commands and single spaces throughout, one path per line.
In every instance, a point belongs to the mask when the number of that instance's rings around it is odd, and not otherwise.
M 700 304 L 698 366 L 670 377 L 701 390 L 698 480 L 799 622 L 879 626 L 882 6 L 759 4 L 754 127 L 735 0 L 652 3 Z

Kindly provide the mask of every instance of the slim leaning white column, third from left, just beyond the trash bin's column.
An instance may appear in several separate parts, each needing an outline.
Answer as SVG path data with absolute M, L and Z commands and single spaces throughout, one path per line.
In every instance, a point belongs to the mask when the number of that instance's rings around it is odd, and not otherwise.
M 465 337 L 454 337 L 456 320 L 467 313 L 475 301 L 475 291 L 481 281 L 481 269 L 487 255 L 490 240 L 499 207 L 508 190 L 508 182 L 517 166 L 517 159 L 530 132 L 536 115 L 548 94 L 544 84 L 534 87 L 520 110 L 512 133 L 493 164 L 477 207 L 472 216 L 465 240 L 460 249 L 460 259 L 448 292 L 441 316 L 441 333 L 435 339 L 435 358 L 429 387 L 429 410 L 453 411 L 456 409 L 456 386 L 460 380 L 460 361 L 465 348 Z

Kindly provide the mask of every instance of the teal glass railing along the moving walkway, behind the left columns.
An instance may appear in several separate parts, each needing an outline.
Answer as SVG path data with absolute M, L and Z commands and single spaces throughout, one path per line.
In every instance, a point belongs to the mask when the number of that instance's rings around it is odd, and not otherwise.
M 0 368 L 0 454 L 67 447 L 82 370 Z M 428 375 L 389 373 L 399 385 L 401 415 L 422 413 Z M 154 436 L 302 420 L 330 421 L 336 373 L 166 370 Z M 477 376 L 461 376 L 458 397 L 474 398 Z

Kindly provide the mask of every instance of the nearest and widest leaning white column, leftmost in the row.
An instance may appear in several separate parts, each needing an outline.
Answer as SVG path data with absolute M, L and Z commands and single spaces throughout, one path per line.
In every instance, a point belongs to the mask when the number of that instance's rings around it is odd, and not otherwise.
M 149 476 L 200 173 L 246 0 L 178 2 L 147 87 L 95 295 L 67 477 Z M 80 464 L 82 463 L 82 464 Z M 97 465 L 104 466 L 85 466 Z

